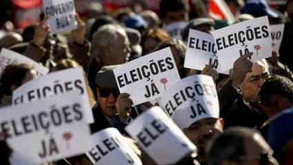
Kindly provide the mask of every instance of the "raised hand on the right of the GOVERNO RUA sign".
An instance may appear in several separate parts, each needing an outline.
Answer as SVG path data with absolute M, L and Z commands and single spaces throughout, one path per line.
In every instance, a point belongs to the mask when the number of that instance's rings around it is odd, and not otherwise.
M 73 41 L 83 45 L 85 41 L 85 23 L 79 18 L 79 14 L 75 15 L 77 19 L 77 29 L 71 31 Z

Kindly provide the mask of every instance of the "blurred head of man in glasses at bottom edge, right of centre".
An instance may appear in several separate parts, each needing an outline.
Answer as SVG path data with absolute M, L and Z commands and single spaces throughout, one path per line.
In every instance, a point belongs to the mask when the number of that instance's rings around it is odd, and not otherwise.
M 251 128 L 228 128 L 208 147 L 208 164 L 279 164 L 272 149 L 261 135 Z

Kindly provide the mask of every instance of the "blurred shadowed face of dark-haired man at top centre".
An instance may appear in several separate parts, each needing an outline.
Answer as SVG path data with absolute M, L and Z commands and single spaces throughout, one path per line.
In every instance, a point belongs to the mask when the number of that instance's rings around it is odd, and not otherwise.
M 169 23 L 179 22 L 179 21 L 188 21 L 189 16 L 188 12 L 185 10 L 179 11 L 168 11 L 165 15 L 165 24 L 168 25 Z

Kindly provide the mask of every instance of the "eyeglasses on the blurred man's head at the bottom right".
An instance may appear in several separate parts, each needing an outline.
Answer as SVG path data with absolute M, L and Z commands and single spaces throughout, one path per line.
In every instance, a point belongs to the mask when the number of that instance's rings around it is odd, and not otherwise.
M 272 157 L 272 152 L 264 152 L 260 155 L 241 155 L 239 157 L 234 158 L 235 161 L 244 161 L 244 160 L 251 160 L 251 159 L 259 159 L 261 165 L 269 164 L 269 159 Z

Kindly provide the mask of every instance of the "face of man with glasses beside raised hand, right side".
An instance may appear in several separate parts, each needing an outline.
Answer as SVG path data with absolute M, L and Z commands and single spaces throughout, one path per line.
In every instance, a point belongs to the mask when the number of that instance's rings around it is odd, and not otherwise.
M 243 99 L 250 104 L 259 104 L 259 92 L 263 83 L 270 78 L 267 67 L 260 61 L 254 62 L 252 72 L 247 72 L 242 84 Z

